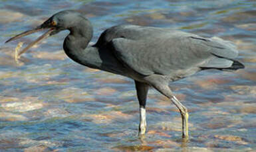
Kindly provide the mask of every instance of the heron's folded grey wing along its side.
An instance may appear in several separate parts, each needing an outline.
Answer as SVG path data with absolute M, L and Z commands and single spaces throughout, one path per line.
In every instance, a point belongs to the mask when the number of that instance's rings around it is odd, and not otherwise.
M 193 67 L 231 66 L 237 50 L 221 38 L 201 38 L 173 31 L 140 40 L 114 38 L 110 42 L 115 56 L 142 75 L 170 75 Z

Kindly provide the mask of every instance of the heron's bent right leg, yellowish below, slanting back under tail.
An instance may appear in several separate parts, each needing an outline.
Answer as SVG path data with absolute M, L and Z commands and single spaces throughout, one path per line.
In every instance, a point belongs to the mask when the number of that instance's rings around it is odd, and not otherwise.
M 174 96 L 170 87 L 168 86 L 168 79 L 159 75 L 150 75 L 145 78 L 152 87 L 158 90 L 162 95 L 167 96 L 180 110 L 182 115 L 182 137 L 188 139 L 188 110 L 182 103 Z

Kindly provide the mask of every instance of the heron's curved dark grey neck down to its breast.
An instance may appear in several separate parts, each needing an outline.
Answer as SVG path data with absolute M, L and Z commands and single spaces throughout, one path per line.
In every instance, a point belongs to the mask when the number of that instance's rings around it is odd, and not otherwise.
M 68 30 L 70 34 L 66 36 L 63 44 L 64 52 L 68 57 L 87 67 L 124 75 L 124 67 L 108 48 L 88 46 L 92 38 L 90 22 Z

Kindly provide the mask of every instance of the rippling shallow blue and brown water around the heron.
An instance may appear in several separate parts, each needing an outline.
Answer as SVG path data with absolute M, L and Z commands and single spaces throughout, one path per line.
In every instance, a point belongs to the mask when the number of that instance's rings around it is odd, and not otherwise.
M 255 151 L 255 1 L 1 1 L 0 151 Z M 246 68 L 203 71 L 170 86 L 190 112 L 190 142 L 181 118 L 160 93 L 148 96 L 148 133 L 138 133 L 131 79 L 78 65 L 62 44 L 44 40 L 15 62 L 19 32 L 64 9 L 84 13 L 100 33 L 116 24 L 171 27 L 233 41 Z M 21 41 L 29 43 L 41 33 Z

